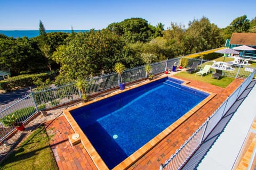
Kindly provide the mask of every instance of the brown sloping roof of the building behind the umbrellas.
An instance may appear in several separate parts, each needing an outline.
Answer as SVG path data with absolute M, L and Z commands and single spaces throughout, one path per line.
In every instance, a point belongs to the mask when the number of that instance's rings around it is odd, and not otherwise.
M 256 33 L 233 33 L 229 44 L 256 46 Z

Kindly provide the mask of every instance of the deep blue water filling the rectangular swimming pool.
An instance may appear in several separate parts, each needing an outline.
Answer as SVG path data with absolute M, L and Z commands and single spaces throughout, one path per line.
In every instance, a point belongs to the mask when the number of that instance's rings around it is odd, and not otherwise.
M 181 83 L 164 78 L 70 113 L 113 168 L 209 95 Z

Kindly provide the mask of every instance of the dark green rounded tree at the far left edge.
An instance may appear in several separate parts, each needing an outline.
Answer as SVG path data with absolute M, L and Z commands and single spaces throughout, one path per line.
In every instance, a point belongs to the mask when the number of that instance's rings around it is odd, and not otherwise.
M 12 75 L 19 75 L 21 71 L 44 70 L 45 60 L 37 44 L 27 37 L 0 38 L 0 65 L 9 68 Z

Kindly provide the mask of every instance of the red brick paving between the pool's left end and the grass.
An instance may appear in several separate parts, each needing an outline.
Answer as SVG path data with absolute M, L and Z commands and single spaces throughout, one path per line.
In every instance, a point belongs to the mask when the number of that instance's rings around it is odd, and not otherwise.
M 74 131 L 64 116 L 48 121 L 45 128 L 59 169 L 97 169 L 82 143 L 71 147 L 68 136 Z

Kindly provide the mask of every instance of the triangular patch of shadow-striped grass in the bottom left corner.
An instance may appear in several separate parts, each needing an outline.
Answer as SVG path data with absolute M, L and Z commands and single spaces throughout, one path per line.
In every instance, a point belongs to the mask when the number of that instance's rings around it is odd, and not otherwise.
M 14 149 L 0 169 L 58 169 L 44 126 L 40 126 Z

